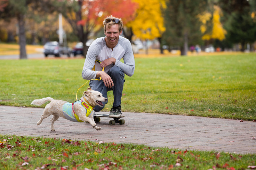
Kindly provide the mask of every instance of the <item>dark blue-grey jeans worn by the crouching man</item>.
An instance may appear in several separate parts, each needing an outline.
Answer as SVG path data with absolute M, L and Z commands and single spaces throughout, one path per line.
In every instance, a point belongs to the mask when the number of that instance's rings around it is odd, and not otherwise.
M 112 86 L 112 88 L 106 87 L 102 80 L 91 80 L 89 85 L 92 88 L 92 90 L 101 92 L 103 97 L 105 97 L 105 98 L 108 98 L 108 91 L 113 90 L 113 95 L 114 95 L 113 106 L 117 107 L 117 106 L 121 105 L 121 98 L 122 98 L 122 93 L 123 93 L 123 89 L 124 89 L 124 81 L 125 81 L 124 80 L 124 71 L 120 67 L 113 66 L 109 70 L 108 75 L 114 82 L 114 86 Z M 95 112 L 100 112 L 100 110 L 102 110 L 105 107 L 105 104 L 107 104 L 108 101 L 102 102 L 102 103 L 103 103 L 102 107 L 95 106 L 93 110 Z

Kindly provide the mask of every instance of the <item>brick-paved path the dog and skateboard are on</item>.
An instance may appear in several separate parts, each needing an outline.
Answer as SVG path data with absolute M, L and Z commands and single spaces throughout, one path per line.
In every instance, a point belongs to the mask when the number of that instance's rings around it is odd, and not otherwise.
M 100 117 L 97 131 L 88 123 L 59 118 L 50 131 L 51 116 L 37 126 L 43 108 L 0 106 L 0 134 L 58 137 L 73 140 L 145 144 L 188 150 L 256 153 L 256 122 L 150 113 L 123 113 L 125 124 Z M 107 112 L 102 112 L 107 113 Z

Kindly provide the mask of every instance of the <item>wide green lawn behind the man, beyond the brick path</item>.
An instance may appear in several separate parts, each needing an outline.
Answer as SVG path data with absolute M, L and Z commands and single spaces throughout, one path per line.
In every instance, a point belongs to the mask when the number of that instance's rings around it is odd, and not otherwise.
M 122 111 L 256 120 L 255 63 L 255 53 L 135 58 L 134 75 L 125 76 Z M 83 64 L 84 59 L 1 60 L 0 105 L 36 107 L 31 101 L 48 96 L 74 102 L 86 82 Z M 104 111 L 112 103 L 108 92 Z

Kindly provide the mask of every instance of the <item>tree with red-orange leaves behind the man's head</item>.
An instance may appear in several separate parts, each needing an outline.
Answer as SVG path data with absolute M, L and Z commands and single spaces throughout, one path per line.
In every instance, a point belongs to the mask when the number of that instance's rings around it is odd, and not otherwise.
M 131 0 L 62 0 L 57 6 L 79 41 L 84 43 L 84 55 L 88 50 L 85 43 L 89 37 L 93 37 L 103 29 L 103 18 L 112 14 L 115 17 L 123 18 L 124 22 L 128 22 L 132 18 L 135 7 Z

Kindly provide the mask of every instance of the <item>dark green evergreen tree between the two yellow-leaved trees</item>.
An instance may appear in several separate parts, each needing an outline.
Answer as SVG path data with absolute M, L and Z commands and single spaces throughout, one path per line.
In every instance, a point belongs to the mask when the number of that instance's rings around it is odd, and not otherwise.
M 189 44 L 201 41 L 201 21 L 198 15 L 205 11 L 207 4 L 207 0 L 169 0 L 167 2 L 164 41 L 169 46 L 178 46 L 181 55 L 187 55 Z

